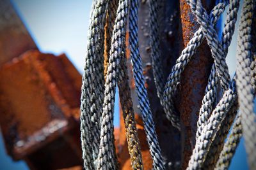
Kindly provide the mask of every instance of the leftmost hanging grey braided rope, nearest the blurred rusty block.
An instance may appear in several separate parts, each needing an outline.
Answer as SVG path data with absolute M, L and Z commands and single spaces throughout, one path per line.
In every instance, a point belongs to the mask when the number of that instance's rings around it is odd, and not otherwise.
M 100 65 L 99 60 L 95 59 L 103 54 L 103 49 L 99 47 L 103 44 L 100 37 L 103 36 L 104 32 L 106 1 L 105 3 L 93 1 L 92 8 L 81 94 L 81 141 L 86 169 L 95 168 L 93 162 L 99 150 L 100 99 L 95 97 L 93 85 L 100 83 L 100 80 L 95 81 L 93 75 L 94 72 L 100 71 L 100 66 L 95 66 L 95 63 Z M 102 88 L 102 86 L 100 87 Z M 97 91 L 97 94 L 100 94 L 100 90 Z

